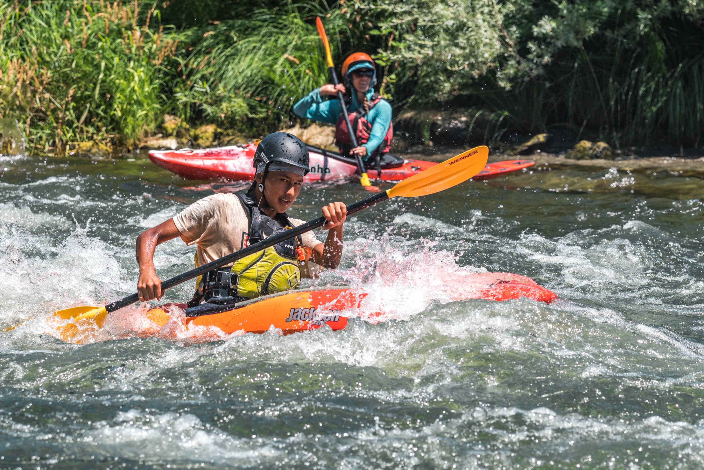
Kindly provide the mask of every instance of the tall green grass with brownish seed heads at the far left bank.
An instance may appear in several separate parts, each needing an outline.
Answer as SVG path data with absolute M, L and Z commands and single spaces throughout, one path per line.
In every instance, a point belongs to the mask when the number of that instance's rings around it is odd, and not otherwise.
M 22 118 L 30 151 L 63 155 L 85 141 L 130 147 L 156 128 L 163 64 L 178 45 L 172 28 L 149 27 L 156 6 L 0 4 L 0 117 Z

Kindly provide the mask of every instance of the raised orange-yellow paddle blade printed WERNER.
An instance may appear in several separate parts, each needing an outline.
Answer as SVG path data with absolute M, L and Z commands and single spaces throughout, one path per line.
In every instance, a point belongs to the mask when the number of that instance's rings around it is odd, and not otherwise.
M 482 171 L 489 159 L 489 147 L 480 145 L 401 181 L 386 194 L 391 197 L 418 197 L 463 183 Z

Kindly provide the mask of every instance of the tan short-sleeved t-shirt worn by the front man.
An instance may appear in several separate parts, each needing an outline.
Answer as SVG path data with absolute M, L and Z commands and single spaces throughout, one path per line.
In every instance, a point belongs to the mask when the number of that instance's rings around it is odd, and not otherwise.
M 196 259 L 199 266 L 227 256 L 241 249 L 242 242 L 249 239 L 247 213 L 232 193 L 213 194 L 200 199 L 173 218 L 181 239 L 187 245 L 198 245 Z M 306 223 L 289 218 L 291 223 Z M 313 232 L 301 235 L 304 247 L 314 248 L 320 242 Z M 246 246 L 247 244 L 245 244 Z M 232 266 L 232 263 L 226 266 Z

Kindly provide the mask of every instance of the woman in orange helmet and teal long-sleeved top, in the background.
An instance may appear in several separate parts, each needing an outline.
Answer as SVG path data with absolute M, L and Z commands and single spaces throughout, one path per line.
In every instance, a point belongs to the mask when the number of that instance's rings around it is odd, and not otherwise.
M 301 118 L 334 124 L 335 143 L 340 151 L 347 156 L 358 154 L 365 166 L 373 166 L 370 163 L 374 163 L 377 156 L 383 159 L 389 151 L 394 136 L 391 105 L 374 92 L 377 71 L 369 55 L 355 52 L 346 58 L 342 63 L 342 77 L 344 85 L 323 85 L 301 98 L 294 106 L 294 113 Z M 338 90 L 345 94 L 348 87 L 351 87 L 351 94 L 346 106 L 359 145 L 355 148 L 352 148 L 339 100 L 323 99 L 334 97 Z

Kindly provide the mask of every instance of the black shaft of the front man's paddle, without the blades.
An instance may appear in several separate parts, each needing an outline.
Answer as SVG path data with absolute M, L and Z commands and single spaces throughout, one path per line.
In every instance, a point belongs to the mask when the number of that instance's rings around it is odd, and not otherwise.
M 354 214 L 355 212 L 361 211 L 362 209 L 367 209 L 367 207 L 373 206 L 374 204 L 377 204 L 377 202 L 385 201 L 386 199 L 389 199 L 389 194 L 386 194 L 386 191 L 379 192 L 378 194 L 367 197 L 367 199 L 363 199 L 360 202 L 356 202 L 351 206 L 348 206 L 347 215 Z M 197 278 L 198 276 L 201 276 L 207 273 L 208 271 L 212 271 L 213 269 L 225 266 L 225 264 L 230 264 L 233 261 L 237 261 L 238 259 L 244 258 L 245 256 L 260 252 L 265 248 L 272 247 L 284 240 L 289 240 L 289 238 L 301 235 L 301 233 L 309 232 L 314 228 L 322 227 L 322 225 L 325 225 L 325 222 L 325 217 L 318 217 L 313 221 L 306 222 L 303 225 L 298 225 L 298 227 L 284 230 L 283 232 L 265 238 L 264 240 L 257 242 L 254 245 L 249 245 L 249 247 L 240 249 L 237 252 L 228 254 L 227 256 L 222 256 L 222 258 L 220 259 L 210 261 L 210 263 L 208 264 L 203 264 L 203 266 L 199 266 L 197 268 L 191 269 L 191 271 L 187 271 L 183 274 L 179 274 L 178 276 L 167 279 L 163 281 L 163 283 L 161 283 L 161 290 L 163 292 L 164 290 L 167 290 L 170 287 L 174 287 L 175 285 L 179 285 L 180 283 L 183 283 L 189 279 Z M 106 311 L 111 312 L 121 309 L 122 307 L 127 307 L 127 305 L 134 304 L 134 302 L 138 301 L 139 294 L 135 293 L 132 295 L 128 295 L 122 300 L 113 302 L 112 304 L 107 304 L 105 306 L 105 309 Z

